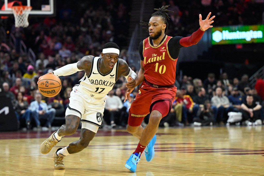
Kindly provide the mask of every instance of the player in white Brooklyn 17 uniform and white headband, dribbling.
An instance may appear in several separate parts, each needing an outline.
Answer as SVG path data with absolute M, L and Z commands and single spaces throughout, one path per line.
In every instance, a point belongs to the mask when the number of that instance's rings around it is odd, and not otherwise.
M 79 122 L 82 123 L 81 137 L 67 147 L 59 148 L 53 155 L 54 168 L 65 169 L 63 158 L 85 149 L 96 135 L 102 123 L 105 99 L 115 82 L 122 75 L 128 80 L 128 88 L 135 86 L 136 73 L 128 64 L 119 59 L 119 47 L 113 42 L 106 43 L 102 57 L 85 56 L 81 61 L 63 66 L 49 74 L 67 76 L 84 70 L 85 74 L 70 93 L 70 103 L 65 112 L 66 124 L 62 125 L 40 146 L 42 154 L 50 152 L 63 136 L 76 132 Z

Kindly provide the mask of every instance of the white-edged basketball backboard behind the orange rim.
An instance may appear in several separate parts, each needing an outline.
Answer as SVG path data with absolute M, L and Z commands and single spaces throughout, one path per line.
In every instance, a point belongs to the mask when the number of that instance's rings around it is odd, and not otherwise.
M 23 6 L 32 6 L 29 15 L 52 16 L 55 13 L 55 0 L 2 0 L 0 1 L 0 16 L 13 15 L 11 7 L 18 5 L 19 1 Z

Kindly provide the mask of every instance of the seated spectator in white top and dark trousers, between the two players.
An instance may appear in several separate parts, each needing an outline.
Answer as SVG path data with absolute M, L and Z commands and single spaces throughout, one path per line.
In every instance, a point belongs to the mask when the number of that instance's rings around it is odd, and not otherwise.
M 120 109 L 123 107 L 123 103 L 118 96 L 114 95 L 114 90 L 110 90 L 105 100 L 105 112 L 104 118 L 106 121 L 110 121 L 112 128 L 116 126 L 116 120 L 119 119 Z

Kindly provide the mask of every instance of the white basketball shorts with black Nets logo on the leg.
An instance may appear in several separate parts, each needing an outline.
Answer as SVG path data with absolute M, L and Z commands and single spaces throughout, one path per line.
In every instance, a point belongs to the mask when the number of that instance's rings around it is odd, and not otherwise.
M 97 132 L 101 127 L 103 112 L 105 109 L 105 98 L 96 99 L 84 94 L 81 88 L 74 86 L 70 92 L 70 103 L 66 109 L 65 116 L 76 115 L 81 118 L 82 128 Z

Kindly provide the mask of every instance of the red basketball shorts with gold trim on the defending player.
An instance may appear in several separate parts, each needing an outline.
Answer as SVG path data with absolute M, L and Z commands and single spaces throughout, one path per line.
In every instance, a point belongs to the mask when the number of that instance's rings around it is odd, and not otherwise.
M 166 116 L 172 108 L 176 91 L 176 87 L 155 88 L 143 81 L 130 106 L 128 124 L 133 127 L 140 126 L 144 117 L 153 110 L 158 110 L 162 117 Z

